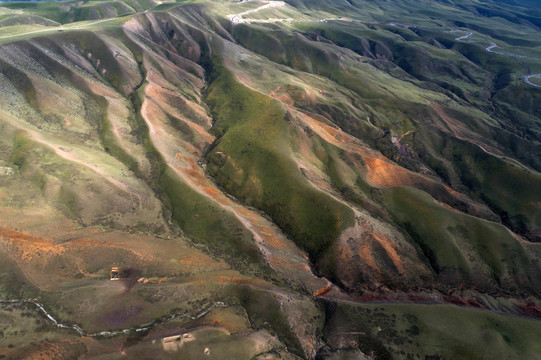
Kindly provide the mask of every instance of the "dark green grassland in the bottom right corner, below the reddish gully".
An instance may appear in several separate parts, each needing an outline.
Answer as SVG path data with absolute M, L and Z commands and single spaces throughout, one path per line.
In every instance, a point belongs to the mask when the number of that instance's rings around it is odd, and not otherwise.
M 539 358 L 538 321 L 437 305 L 338 305 L 325 331 L 335 350 L 379 359 Z

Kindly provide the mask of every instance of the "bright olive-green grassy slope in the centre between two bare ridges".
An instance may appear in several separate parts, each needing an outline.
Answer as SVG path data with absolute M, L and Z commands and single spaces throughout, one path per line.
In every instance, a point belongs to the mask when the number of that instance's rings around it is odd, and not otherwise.
M 318 259 L 353 225 L 352 211 L 314 189 L 289 159 L 287 114 L 280 103 L 239 84 L 222 66 L 214 71 L 220 75 L 207 103 L 215 114 L 218 143 L 208 156 L 209 173 Z

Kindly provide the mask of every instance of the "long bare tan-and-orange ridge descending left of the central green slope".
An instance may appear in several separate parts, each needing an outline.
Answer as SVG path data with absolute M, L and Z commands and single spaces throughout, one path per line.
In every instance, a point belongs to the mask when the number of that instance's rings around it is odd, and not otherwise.
M 128 23 L 127 26 L 129 28 L 130 24 Z M 174 67 L 173 64 L 169 65 Z M 143 61 L 143 66 L 149 68 L 150 64 Z M 185 81 L 186 74 L 183 74 L 179 68 L 176 70 L 177 81 Z M 171 79 L 171 76 L 168 79 Z M 200 92 L 203 83 L 199 82 L 198 85 L 198 92 Z M 285 278 L 294 281 L 297 287 L 306 287 L 309 293 L 314 293 L 317 289 L 324 287 L 326 282 L 311 274 L 307 256 L 300 252 L 276 225 L 256 211 L 245 208 L 227 197 L 207 178 L 200 165 L 200 160 L 206 148 L 215 141 L 215 138 L 208 133 L 211 120 L 208 118 L 205 108 L 168 90 L 171 87 L 171 83 L 165 80 L 161 74 L 149 68 L 141 115 L 149 129 L 150 140 L 164 158 L 167 166 L 172 168 L 182 181 L 199 194 L 208 197 L 226 211 L 233 213 L 253 234 L 260 252 L 275 271 L 283 272 Z M 185 102 L 194 115 L 190 116 L 188 111 L 181 114 L 174 110 L 171 111 L 171 99 L 175 103 Z M 169 121 L 174 117 L 177 117 L 177 121 L 190 124 L 188 125 L 190 131 L 199 135 L 199 139 L 194 139 L 195 144 L 184 141 L 179 144 L 178 139 L 182 139 L 183 135 L 171 126 Z M 201 117 L 207 117 L 203 123 L 200 120 Z M 288 269 L 289 267 L 291 269 Z

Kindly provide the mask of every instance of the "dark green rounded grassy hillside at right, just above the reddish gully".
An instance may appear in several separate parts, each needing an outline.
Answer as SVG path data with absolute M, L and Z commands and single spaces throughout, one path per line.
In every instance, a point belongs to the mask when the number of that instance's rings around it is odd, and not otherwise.
M 396 221 L 445 283 L 475 282 L 489 290 L 512 276 L 521 288 L 538 286 L 526 249 L 503 226 L 454 213 L 411 189 L 388 189 L 384 196 Z

